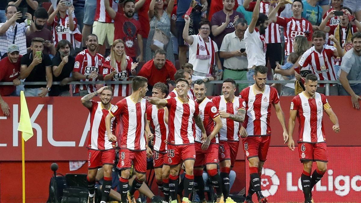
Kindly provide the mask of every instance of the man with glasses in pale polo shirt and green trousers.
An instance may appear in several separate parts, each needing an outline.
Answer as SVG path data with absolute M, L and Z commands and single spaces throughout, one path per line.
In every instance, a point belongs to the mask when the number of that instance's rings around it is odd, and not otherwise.
M 247 21 L 238 18 L 234 23 L 235 31 L 223 38 L 219 56 L 224 58 L 223 78 L 234 80 L 247 80 L 247 54 L 245 52 L 244 32 L 247 30 Z M 237 64 L 237 65 L 235 65 Z M 246 88 L 247 84 L 237 84 L 239 92 Z

